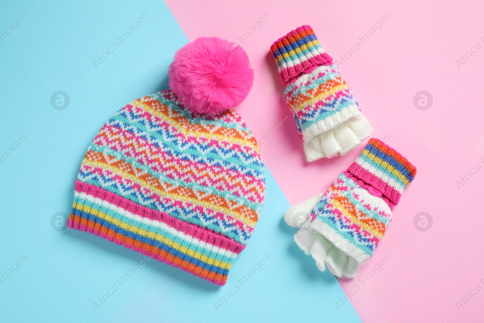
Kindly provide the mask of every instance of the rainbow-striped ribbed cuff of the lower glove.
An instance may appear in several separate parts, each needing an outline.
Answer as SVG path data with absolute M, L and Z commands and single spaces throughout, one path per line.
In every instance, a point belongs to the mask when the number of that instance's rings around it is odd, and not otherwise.
M 417 169 L 383 141 L 371 138 L 348 172 L 397 205 L 400 195 L 415 178 Z

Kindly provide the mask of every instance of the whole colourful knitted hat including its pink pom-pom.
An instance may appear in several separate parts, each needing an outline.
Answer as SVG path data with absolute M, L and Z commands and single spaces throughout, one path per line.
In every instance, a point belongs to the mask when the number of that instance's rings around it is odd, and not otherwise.
M 224 285 L 264 200 L 257 141 L 227 109 L 247 96 L 253 71 L 240 46 L 199 38 L 169 73 L 177 92 L 128 103 L 97 133 L 68 227 Z

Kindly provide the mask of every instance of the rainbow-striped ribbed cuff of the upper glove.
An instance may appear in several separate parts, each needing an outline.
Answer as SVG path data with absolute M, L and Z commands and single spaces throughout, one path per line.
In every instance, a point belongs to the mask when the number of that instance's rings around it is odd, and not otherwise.
M 330 65 L 333 59 L 319 44 L 318 37 L 310 26 L 304 25 L 289 31 L 271 46 L 271 53 L 277 64 L 281 82 L 299 77 L 313 66 Z

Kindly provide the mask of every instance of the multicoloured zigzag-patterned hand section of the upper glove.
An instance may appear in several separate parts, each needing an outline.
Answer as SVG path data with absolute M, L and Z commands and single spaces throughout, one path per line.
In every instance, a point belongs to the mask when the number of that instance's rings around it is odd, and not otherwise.
M 284 98 L 302 139 L 308 137 L 304 136 L 305 130 L 337 113 L 348 112 L 348 117 L 355 110 L 359 113 L 353 93 L 334 64 L 320 66 L 287 84 Z

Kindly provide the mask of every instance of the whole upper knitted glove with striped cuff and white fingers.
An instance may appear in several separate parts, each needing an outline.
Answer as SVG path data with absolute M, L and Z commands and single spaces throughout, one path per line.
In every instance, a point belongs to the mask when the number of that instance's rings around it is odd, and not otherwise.
M 371 134 L 370 123 L 311 27 L 290 31 L 272 44 L 271 52 L 307 161 L 344 155 Z

